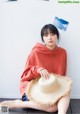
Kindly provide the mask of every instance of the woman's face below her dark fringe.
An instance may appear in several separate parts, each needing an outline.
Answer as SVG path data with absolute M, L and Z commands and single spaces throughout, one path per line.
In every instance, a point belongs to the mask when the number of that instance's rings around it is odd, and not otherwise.
M 53 48 L 53 47 L 55 47 L 58 38 L 57 38 L 56 34 L 48 32 L 43 36 L 43 40 L 47 47 Z

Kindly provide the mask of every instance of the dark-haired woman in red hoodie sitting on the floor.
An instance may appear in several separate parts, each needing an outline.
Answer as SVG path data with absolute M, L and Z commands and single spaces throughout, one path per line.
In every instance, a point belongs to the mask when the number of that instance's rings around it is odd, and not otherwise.
M 41 39 L 44 45 L 37 43 L 33 47 L 21 76 L 20 92 L 22 100 L 5 101 L 2 102 L 2 105 L 8 105 L 9 108 L 33 108 L 46 112 L 58 111 L 58 114 L 66 114 L 70 101 L 69 93 L 51 106 L 42 106 L 29 101 L 25 94 L 29 81 L 37 78 L 39 75 L 45 79 L 49 78 L 49 73 L 66 75 L 67 54 L 65 49 L 57 46 L 59 42 L 58 29 L 52 24 L 43 26 Z

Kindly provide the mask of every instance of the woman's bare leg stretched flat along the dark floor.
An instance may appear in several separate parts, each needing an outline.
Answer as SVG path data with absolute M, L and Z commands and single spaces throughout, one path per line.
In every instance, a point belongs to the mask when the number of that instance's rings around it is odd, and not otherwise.
M 21 101 L 21 100 L 11 100 L 11 101 L 3 101 L 0 103 L 1 106 L 8 106 L 9 108 L 33 108 L 37 110 L 43 110 L 46 112 L 55 112 L 57 111 L 57 104 L 52 106 L 43 106 L 39 105 L 32 101 Z

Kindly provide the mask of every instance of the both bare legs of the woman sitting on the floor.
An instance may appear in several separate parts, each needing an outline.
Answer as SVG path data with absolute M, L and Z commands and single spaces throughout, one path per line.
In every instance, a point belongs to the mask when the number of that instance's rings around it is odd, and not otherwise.
M 21 100 L 12 100 L 4 101 L 0 105 L 8 106 L 9 108 L 33 108 L 38 110 L 43 110 L 46 112 L 55 112 L 58 110 L 58 114 L 66 114 L 69 107 L 70 94 L 63 96 L 60 100 L 52 106 L 43 106 L 39 105 L 32 101 L 21 101 Z

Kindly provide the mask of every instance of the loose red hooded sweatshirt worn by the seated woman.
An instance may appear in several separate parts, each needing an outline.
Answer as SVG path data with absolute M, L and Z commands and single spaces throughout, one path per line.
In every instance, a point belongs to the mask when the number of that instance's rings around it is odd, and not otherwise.
M 49 73 L 65 76 L 67 66 L 67 54 L 65 49 L 55 47 L 49 50 L 45 45 L 37 43 L 28 56 L 24 72 L 20 81 L 21 95 L 25 93 L 30 80 L 37 78 L 40 69 L 47 69 Z

